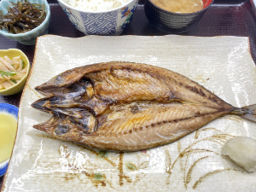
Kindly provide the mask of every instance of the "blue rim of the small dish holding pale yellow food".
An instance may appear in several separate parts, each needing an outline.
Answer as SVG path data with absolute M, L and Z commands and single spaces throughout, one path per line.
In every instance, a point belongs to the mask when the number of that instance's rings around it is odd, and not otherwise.
M 13 117 L 15 117 L 15 119 L 18 119 L 19 108 L 16 108 L 15 106 L 7 103 L 0 103 L 0 113 L 9 113 Z M 0 162 L 0 177 L 5 174 L 8 165 L 9 165 L 9 159 L 4 160 L 3 162 Z

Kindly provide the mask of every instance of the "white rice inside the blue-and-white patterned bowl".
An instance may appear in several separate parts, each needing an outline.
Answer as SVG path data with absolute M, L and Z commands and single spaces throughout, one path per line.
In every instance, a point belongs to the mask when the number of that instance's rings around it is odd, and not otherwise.
M 131 0 L 63 0 L 63 2 L 83 11 L 106 11 L 119 8 Z

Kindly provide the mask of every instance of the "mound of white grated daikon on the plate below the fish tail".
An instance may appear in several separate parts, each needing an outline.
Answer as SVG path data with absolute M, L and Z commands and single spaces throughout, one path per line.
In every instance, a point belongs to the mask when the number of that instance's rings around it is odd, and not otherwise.
M 256 170 L 256 140 L 250 137 L 235 137 L 228 140 L 221 153 L 230 157 L 247 172 Z

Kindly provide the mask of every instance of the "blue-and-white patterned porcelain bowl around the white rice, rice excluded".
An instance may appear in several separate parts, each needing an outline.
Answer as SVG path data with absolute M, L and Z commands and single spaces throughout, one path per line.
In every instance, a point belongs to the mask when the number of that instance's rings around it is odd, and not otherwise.
M 119 35 L 131 23 L 138 0 L 104 12 L 86 12 L 71 7 L 63 0 L 58 2 L 73 26 L 85 35 Z

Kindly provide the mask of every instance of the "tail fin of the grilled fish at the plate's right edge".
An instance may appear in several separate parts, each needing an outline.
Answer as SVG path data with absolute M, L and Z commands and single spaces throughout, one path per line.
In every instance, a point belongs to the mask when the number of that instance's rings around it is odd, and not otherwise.
M 256 104 L 248 105 L 243 108 L 236 108 L 232 113 L 256 123 Z

